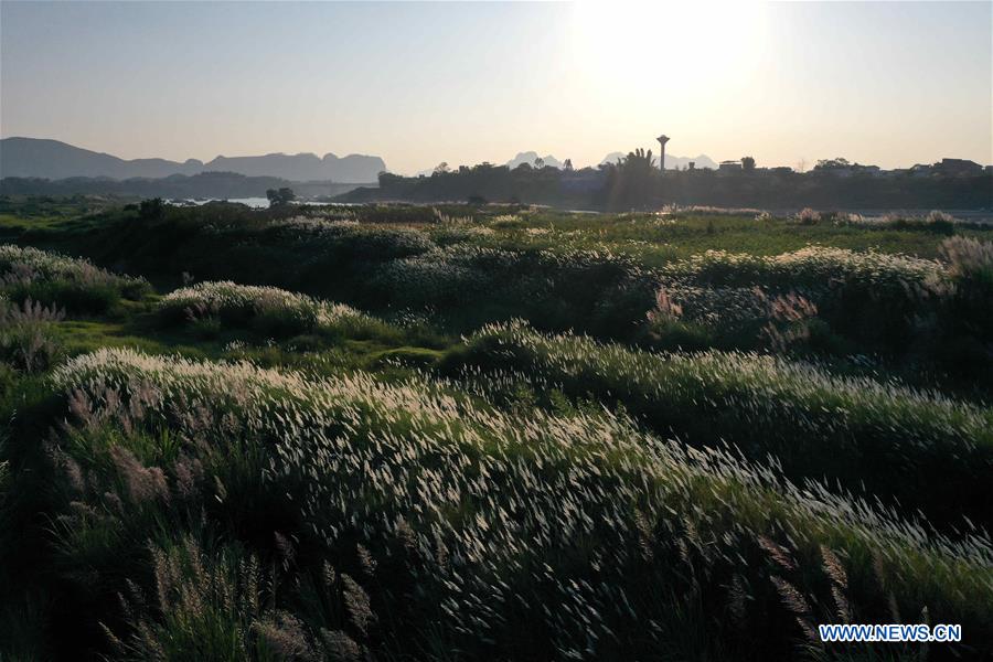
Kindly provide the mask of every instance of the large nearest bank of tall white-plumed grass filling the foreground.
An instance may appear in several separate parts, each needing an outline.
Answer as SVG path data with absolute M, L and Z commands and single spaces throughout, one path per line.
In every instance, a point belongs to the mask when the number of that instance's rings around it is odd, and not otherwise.
M 87 616 L 113 621 L 132 653 L 223 634 L 252 659 L 274 641 L 387 658 L 768 658 L 839 613 L 925 607 L 961 622 L 971 645 L 993 641 L 983 535 L 944 537 L 622 416 L 522 419 L 424 380 L 126 350 L 74 359 L 51 385 L 67 417 L 54 440 L 56 563 L 104 596 Z M 175 538 L 153 544 L 166 551 L 152 581 L 121 577 L 124 559 L 147 558 L 142 535 L 183 530 L 254 549 L 281 588 L 256 609 L 258 591 L 225 579 L 241 566 L 210 573 L 217 557 L 169 552 Z M 169 608 L 110 607 L 129 575 L 132 592 L 159 590 Z

